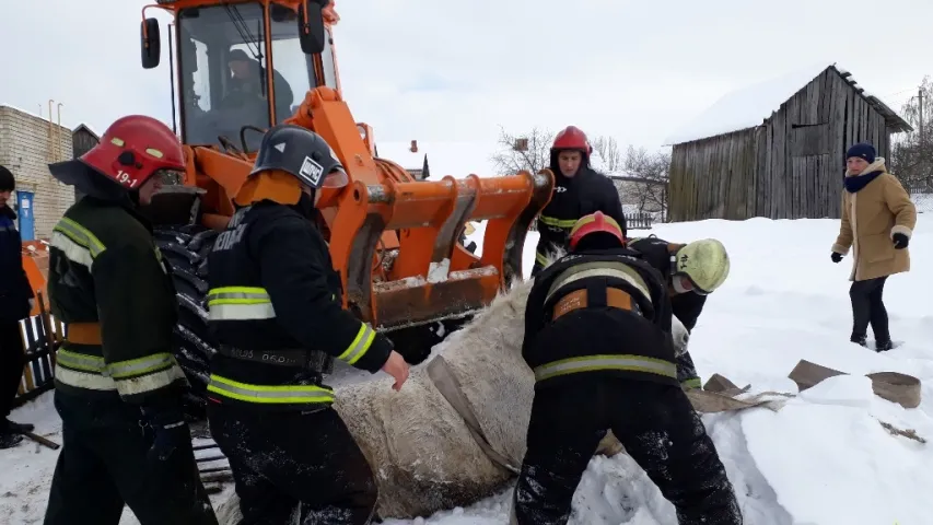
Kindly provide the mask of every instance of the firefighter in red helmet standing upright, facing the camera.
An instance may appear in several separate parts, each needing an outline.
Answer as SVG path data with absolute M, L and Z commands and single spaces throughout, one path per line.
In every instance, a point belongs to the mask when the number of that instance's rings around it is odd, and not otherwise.
M 550 163 L 555 188 L 550 202 L 538 215 L 540 238 L 532 277 L 547 266 L 557 249 L 568 248 L 570 229 L 585 214 L 602 211 L 619 224 L 623 236 L 628 235 L 616 185 L 590 166 L 592 153 L 586 135 L 575 126 L 568 126 L 555 138 Z

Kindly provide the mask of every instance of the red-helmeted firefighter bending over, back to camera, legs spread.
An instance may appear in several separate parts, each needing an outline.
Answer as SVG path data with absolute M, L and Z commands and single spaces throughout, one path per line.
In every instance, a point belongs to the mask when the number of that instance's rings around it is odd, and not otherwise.
M 535 278 L 522 357 L 535 373 L 513 525 L 563 525 L 607 430 L 674 504 L 680 525 L 740 525 L 732 482 L 677 381 L 667 282 L 603 212 Z

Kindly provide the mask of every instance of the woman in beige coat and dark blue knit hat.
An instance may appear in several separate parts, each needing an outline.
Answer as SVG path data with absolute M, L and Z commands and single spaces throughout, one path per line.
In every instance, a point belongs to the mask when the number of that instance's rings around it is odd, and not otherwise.
M 832 245 L 839 262 L 852 247 L 852 336 L 867 347 L 868 324 L 875 334 L 875 351 L 893 348 L 888 314 L 882 293 L 888 276 L 910 270 L 907 245 L 917 224 L 917 209 L 900 182 L 887 172 L 885 160 L 872 144 L 859 143 L 845 154 L 845 189 L 842 224 Z

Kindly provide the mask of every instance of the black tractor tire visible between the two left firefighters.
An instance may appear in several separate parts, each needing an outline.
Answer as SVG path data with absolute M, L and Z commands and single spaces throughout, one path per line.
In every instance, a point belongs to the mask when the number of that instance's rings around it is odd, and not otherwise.
M 208 331 L 207 256 L 219 233 L 195 224 L 160 226 L 154 231 L 155 244 L 172 267 L 175 283 L 178 323 L 173 332 L 173 351 L 191 385 L 184 398 L 185 415 L 190 421 L 207 418 L 210 359 L 217 352 L 217 341 Z

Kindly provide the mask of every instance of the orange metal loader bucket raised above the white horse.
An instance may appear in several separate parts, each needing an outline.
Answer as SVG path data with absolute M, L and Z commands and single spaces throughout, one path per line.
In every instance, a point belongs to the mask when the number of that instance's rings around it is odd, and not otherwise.
M 334 267 L 347 282 L 346 306 L 392 332 L 409 362 L 522 279 L 528 228 L 547 205 L 553 174 L 384 184 L 353 183 L 330 223 Z M 458 243 L 467 221 L 489 221 L 482 256 Z M 398 248 L 380 246 L 397 232 Z M 383 243 L 384 244 L 384 243 Z M 444 328 L 424 330 L 441 322 Z M 415 328 L 422 328 L 415 330 Z M 403 348 L 404 347 L 404 348 Z

